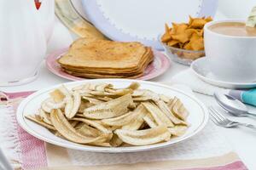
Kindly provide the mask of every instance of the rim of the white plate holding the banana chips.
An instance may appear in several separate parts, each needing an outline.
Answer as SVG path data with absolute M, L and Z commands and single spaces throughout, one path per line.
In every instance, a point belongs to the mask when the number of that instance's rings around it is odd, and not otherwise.
M 52 139 L 47 139 L 42 137 L 40 134 L 37 134 L 35 131 L 31 130 L 28 128 L 28 126 L 26 125 L 24 120 L 24 107 L 26 106 L 26 103 L 30 102 L 32 100 L 32 98 L 36 97 L 37 95 L 40 95 L 42 93 L 45 93 L 53 88 L 57 88 L 59 87 L 61 84 L 65 84 L 67 86 L 69 85 L 73 85 L 73 84 L 79 84 L 79 83 L 85 83 L 85 82 L 139 82 L 139 83 L 146 83 L 149 85 L 153 85 L 153 86 L 157 86 L 157 87 L 163 87 L 163 88 L 168 88 L 172 91 L 176 91 L 177 93 L 181 93 L 187 97 L 189 97 L 190 99 L 193 99 L 195 101 L 195 103 L 197 103 L 197 105 L 199 105 L 201 107 L 201 110 L 204 113 L 204 120 L 201 122 L 201 125 L 199 127 L 197 127 L 197 129 L 195 129 L 194 132 L 189 133 L 187 136 L 177 139 L 175 141 L 168 141 L 165 143 L 160 143 L 160 144 L 152 144 L 152 145 L 147 145 L 147 146 L 133 146 L 133 147 L 129 147 L 128 149 L 124 149 L 124 148 L 108 148 L 108 147 L 97 147 L 97 146 L 91 146 L 90 148 L 86 147 L 86 145 L 82 148 L 79 145 L 74 145 L 74 144 L 63 144 L 60 142 L 56 142 L 55 140 Z M 131 79 L 94 79 L 94 80 L 84 80 L 84 81 L 78 81 L 78 82 L 64 82 L 64 83 L 60 83 L 60 84 L 56 84 L 54 86 L 51 86 L 49 88 L 44 88 L 41 90 L 38 90 L 38 92 L 29 95 L 26 99 L 24 99 L 20 105 L 17 108 L 17 114 L 16 114 L 16 119 L 17 122 L 19 123 L 20 127 L 22 127 L 27 133 L 30 133 L 32 136 L 43 140 L 44 142 L 48 142 L 50 144 L 55 144 L 61 147 L 65 147 L 65 148 L 69 148 L 69 149 L 73 149 L 73 150 L 84 150 L 84 151 L 93 151 L 93 152 L 108 152 L 108 153 L 123 153 L 123 152 L 137 152 L 137 151 L 145 151 L 145 150 L 155 150 L 155 149 L 160 149 L 160 148 L 164 148 L 164 147 L 168 147 L 172 144 L 177 144 L 179 142 L 183 142 L 184 140 L 187 140 L 193 136 L 195 136 L 196 134 L 200 133 L 201 130 L 207 125 L 207 122 L 209 120 L 209 114 L 207 111 L 207 107 L 206 105 L 204 105 L 199 99 L 197 99 L 193 94 L 189 94 L 189 93 L 185 93 L 180 89 L 177 88 L 172 88 L 168 85 L 165 84 L 160 84 L 158 82 L 148 82 L 148 81 L 142 81 L 142 80 L 131 80 Z

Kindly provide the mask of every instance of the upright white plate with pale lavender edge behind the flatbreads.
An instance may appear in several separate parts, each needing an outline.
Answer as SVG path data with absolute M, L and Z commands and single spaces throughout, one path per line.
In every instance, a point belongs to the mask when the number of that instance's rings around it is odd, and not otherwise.
M 165 23 L 214 16 L 218 0 L 82 0 L 94 26 L 114 41 L 139 41 L 162 49 L 157 37 Z

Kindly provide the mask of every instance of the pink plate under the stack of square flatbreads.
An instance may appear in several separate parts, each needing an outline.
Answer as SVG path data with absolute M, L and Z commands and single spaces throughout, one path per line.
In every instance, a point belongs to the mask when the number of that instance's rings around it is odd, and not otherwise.
M 67 53 L 68 48 L 63 48 L 55 51 L 46 58 L 46 66 L 55 75 L 66 78 L 72 81 L 84 80 L 83 77 L 74 77 L 61 70 L 61 65 L 56 62 L 56 59 L 60 58 L 62 54 Z M 159 77 L 161 74 L 166 72 L 170 66 L 170 59 L 165 54 L 154 50 L 154 61 L 148 65 L 143 77 L 137 78 L 137 80 L 149 80 L 154 77 Z

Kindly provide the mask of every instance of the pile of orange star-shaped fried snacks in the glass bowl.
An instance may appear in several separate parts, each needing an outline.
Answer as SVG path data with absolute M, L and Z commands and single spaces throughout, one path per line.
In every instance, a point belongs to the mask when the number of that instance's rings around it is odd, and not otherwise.
M 161 41 L 174 48 L 204 50 L 203 27 L 210 21 L 212 17 L 192 18 L 189 16 L 189 23 L 172 23 L 172 28 L 166 24 L 166 31 Z

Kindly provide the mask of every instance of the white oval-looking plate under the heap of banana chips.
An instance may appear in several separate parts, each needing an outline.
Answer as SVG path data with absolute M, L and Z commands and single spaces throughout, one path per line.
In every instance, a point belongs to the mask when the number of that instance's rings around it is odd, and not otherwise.
M 45 127 L 39 126 L 38 124 L 31 122 L 25 118 L 28 114 L 35 114 L 40 107 L 40 104 L 44 101 L 44 99 L 49 97 L 49 92 L 53 89 L 61 86 L 55 85 L 51 88 L 45 88 L 39 90 L 38 92 L 28 96 L 24 99 L 18 109 L 17 109 L 17 121 L 20 126 L 27 132 L 32 134 L 38 139 L 42 139 L 45 142 L 50 144 L 56 144 L 65 148 L 70 148 L 74 150 L 86 150 L 86 151 L 95 151 L 95 152 L 113 152 L 113 153 L 121 153 L 121 152 L 136 152 L 143 150 L 154 150 L 158 148 L 163 148 L 166 146 L 171 146 L 172 144 L 176 144 L 185 139 L 189 139 L 194 136 L 196 133 L 199 133 L 203 127 L 207 124 L 208 121 L 208 112 L 205 105 L 201 103 L 199 99 L 196 99 L 192 94 L 186 94 L 182 91 L 171 88 L 170 86 L 162 85 L 160 83 L 155 82 L 145 82 L 138 80 L 125 80 L 125 79 L 96 79 L 90 81 L 80 81 L 80 82 L 67 82 L 64 85 L 67 88 L 73 88 L 74 86 L 81 85 L 86 82 L 108 82 L 112 83 L 117 88 L 125 88 L 131 82 L 139 82 L 141 84 L 141 88 L 150 89 L 158 94 L 166 94 L 167 96 L 177 96 L 177 98 L 181 99 L 185 107 L 189 111 L 189 128 L 187 132 L 178 138 L 173 138 L 168 142 L 160 143 L 160 144 L 151 144 L 146 146 L 131 146 L 131 147 L 98 147 L 98 146 L 90 146 L 83 144 L 75 144 L 73 142 L 68 141 L 67 139 L 61 139 L 55 136 L 53 133 L 50 133 L 48 129 Z

